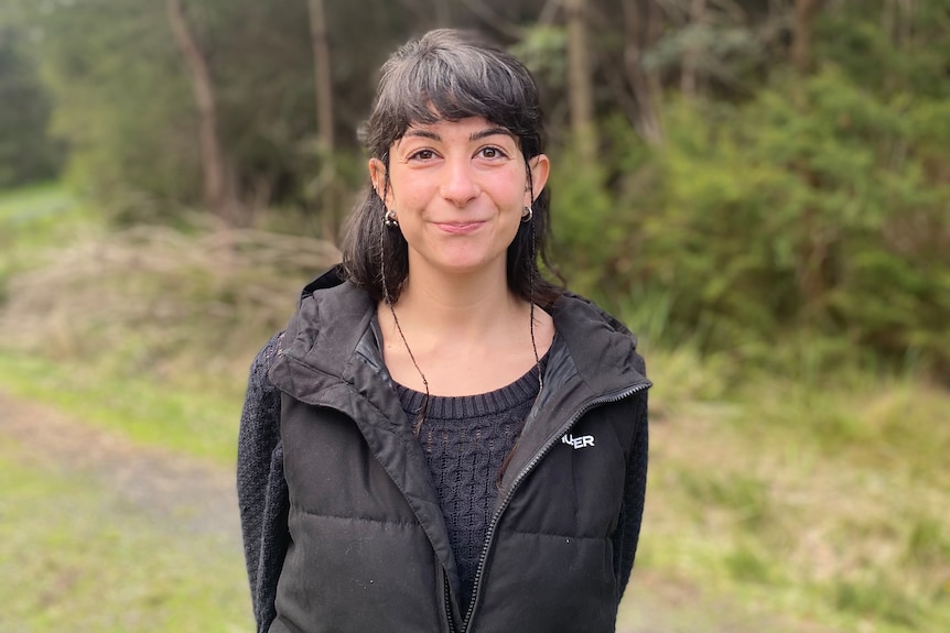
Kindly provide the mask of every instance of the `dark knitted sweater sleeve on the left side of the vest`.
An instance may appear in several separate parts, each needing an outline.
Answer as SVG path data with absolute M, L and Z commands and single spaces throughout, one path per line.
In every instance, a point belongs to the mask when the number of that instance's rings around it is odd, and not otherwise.
M 238 436 L 238 505 L 259 633 L 267 631 L 276 616 L 277 582 L 290 539 L 280 392 L 268 380 L 282 336 L 272 337 L 251 363 Z

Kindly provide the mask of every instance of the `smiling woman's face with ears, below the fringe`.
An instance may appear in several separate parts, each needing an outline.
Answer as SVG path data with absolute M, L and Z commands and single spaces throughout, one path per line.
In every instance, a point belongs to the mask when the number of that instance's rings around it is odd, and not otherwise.
M 473 117 L 411 125 L 389 149 L 388 184 L 385 170 L 370 161 L 374 187 L 380 196 L 385 190 L 409 243 L 410 279 L 494 269 L 504 279 L 506 250 L 549 165 L 544 155 L 531 160 L 530 190 L 517 139 Z

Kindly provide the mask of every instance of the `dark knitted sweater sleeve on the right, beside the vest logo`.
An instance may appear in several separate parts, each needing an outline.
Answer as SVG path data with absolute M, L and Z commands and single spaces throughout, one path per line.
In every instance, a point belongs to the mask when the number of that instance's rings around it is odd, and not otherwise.
M 647 416 L 647 392 L 637 399 L 636 408 L 637 433 L 634 439 L 630 458 L 627 462 L 626 483 L 624 485 L 624 502 L 620 508 L 620 519 L 614 533 L 614 563 L 617 571 L 619 597 L 624 596 L 634 558 L 637 556 L 637 542 L 640 537 L 640 524 L 644 516 L 644 499 L 647 489 L 647 458 L 649 452 L 649 428 Z

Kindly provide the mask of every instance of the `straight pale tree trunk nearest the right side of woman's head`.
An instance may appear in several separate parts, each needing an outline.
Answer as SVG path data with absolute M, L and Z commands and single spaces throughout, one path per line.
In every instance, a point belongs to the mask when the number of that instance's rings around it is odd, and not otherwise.
M 566 0 L 568 18 L 568 88 L 571 103 L 571 131 L 577 155 L 584 164 L 596 160 L 594 128 L 594 86 L 587 56 L 587 23 L 584 0 Z

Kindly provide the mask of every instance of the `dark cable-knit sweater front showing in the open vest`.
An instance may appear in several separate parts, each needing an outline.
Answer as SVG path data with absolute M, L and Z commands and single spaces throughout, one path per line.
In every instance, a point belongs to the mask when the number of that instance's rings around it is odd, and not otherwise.
M 396 389 L 407 417 L 417 419 L 425 394 L 402 385 Z M 445 516 L 462 582 L 463 613 L 468 609 L 478 558 L 488 532 L 498 472 L 537 395 L 538 370 L 533 368 L 497 391 L 430 397 L 419 443 Z

